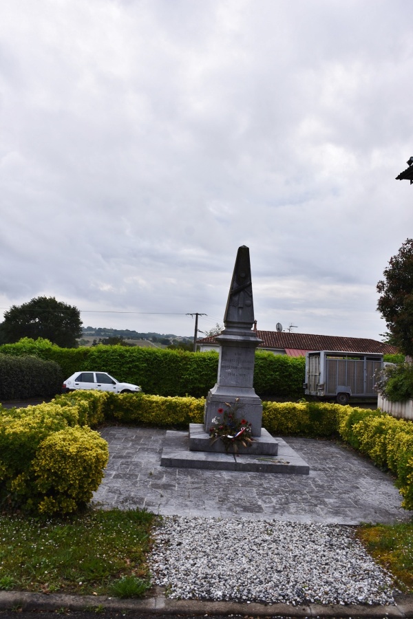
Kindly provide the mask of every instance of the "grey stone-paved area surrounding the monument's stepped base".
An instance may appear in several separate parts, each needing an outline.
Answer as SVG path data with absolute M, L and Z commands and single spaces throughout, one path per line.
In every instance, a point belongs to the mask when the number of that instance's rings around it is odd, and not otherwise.
M 341 444 L 284 437 L 309 475 L 237 473 L 160 466 L 166 431 L 110 426 L 110 459 L 94 501 L 163 515 L 356 525 L 411 521 L 394 479 Z

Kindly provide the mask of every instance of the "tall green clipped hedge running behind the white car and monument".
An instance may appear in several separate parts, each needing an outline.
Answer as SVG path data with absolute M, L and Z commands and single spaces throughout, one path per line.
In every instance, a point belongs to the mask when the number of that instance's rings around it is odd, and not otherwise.
M 125 346 L 59 348 L 48 340 L 23 338 L 16 344 L 0 346 L 0 354 L 31 354 L 52 360 L 61 366 L 63 380 L 76 371 L 105 371 L 121 382 L 142 387 L 145 393 L 164 396 L 191 395 L 205 397 L 218 374 L 218 353 L 192 353 L 180 350 L 149 349 Z M 303 395 L 304 357 L 255 355 L 254 386 L 261 398 Z

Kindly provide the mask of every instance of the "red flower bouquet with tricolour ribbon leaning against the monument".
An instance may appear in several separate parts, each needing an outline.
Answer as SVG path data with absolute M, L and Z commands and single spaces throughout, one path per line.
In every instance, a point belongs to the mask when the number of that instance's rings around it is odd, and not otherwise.
M 251 436 L 251 423 L 243 417 L 237 417 L 237 411 L 242 408 L 239 399 L 236 398 L 235 404 L 225 402 L 226 410 L 218 409 L 218 415 L 211 420 L 213 424 L 209 428 L 209 436 L 212 444 L 221 439 L 225 446 L 226 453 L 233 448 L 233 453 L 238 453 L 238 446 L 251 446 L 253 438 Z

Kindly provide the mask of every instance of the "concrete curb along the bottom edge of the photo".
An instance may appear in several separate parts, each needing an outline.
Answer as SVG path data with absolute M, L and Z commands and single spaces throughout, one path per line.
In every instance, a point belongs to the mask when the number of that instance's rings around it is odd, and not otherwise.
M 169 600 L 157 594 L 139 600 L 120 600 L 108 596 L 75 596 L 69 594 L 38 594 L 28 591 L 0 591 L 0 611 L 71 611 L 109 610 L 162 613 L 164 615 L 244 615 L 257 617 L 284 616 L 309 618 L 382 617 L 383 619 L 413 618 L 413 595 L 399 595 L 394 606 L 339 604 L 260 604 L 258 602 L 209 602 L 207 600 Z

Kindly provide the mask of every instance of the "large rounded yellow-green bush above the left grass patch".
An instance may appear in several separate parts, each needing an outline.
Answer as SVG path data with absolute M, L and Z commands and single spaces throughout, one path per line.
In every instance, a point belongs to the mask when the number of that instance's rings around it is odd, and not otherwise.
M 85 425 L 96 415 L 90 400 L 1 409 L 1 502 L 52 514 L 90 500 L 109 457 L 107 443 Z

